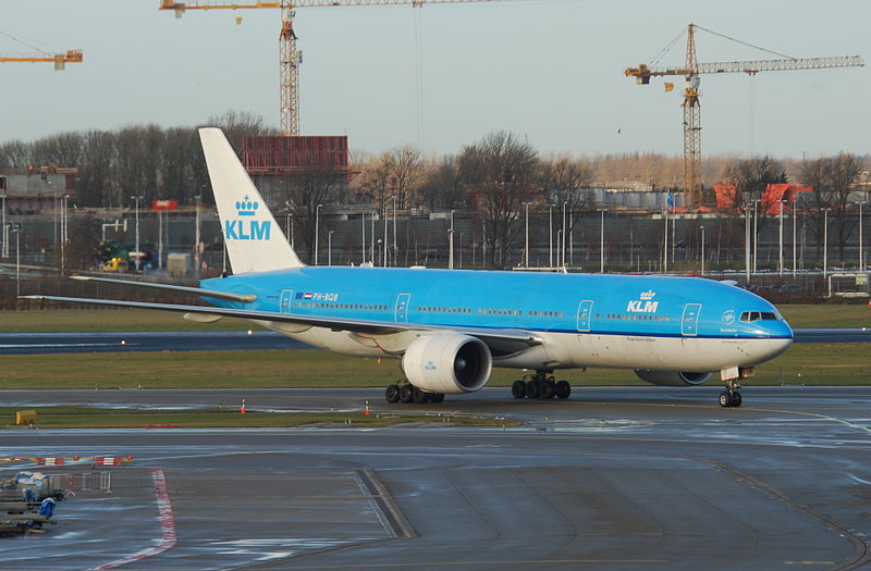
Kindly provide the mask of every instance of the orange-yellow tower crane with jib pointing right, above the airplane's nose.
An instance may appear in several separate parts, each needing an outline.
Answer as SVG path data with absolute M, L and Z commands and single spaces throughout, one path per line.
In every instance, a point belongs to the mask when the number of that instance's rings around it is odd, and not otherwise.
M 862 59 L 858 55 L 835 58 L 789 58 L 784 55 L 782 59 L 776 60 L 699 63 L 696 59 L 696 28 L 752 48 L 761 49 L 757 46 L 697 26 L 696 24 L 689 24 L 689 26 L 687 26 L 687 55 L 684 67 L 657 69 L 640 64 L 638 67 L 628 67 L 624 72 L 627 77 L 635 77 L 638 85 L 650 84 L 651 77 L 684 76 L 684 100 L 680 103 L 684 108 L 684 190 L 688 195 L 688 204 L 692 208 L 698 208 L 701 203 L 701 105 L 699 102 L 699 97 L 701 95 L 699 90 L 699 76 L 701 74 L 746 73 L 756 75 L 759 72 L 820 70 L 823 67 L 859 67 L 864 65 Z M 672 45 L 674 45 L 674 41 Z M 671 45 L 668 47 L 671 47 Z M 666 48 L 666 50 L 668 48 Z M 663 50 L 663 52 L 666 50 Z M 777 55 L 783 54 L 778 53 Z M 666 90 L 671 90 L 673 87 L 672 84 L 666 84 Z

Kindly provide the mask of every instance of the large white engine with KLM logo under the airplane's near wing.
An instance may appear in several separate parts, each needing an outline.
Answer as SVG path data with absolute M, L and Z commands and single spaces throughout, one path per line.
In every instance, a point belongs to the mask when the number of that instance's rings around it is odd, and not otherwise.
M 474 393 L 493 371 L 490 348 L 468 335 L 427 335 L 412 342 L 402 370 L 417 388 L 428 393 Z

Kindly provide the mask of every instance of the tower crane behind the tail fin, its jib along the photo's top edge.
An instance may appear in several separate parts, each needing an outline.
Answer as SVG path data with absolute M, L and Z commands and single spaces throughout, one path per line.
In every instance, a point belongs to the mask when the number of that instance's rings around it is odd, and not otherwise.
M 295 8 L 317 7 L 361 7 L 361 5 L 412 5 L 422 8 L 424 4 L 446 4 L 468 2 L 493 2 L 498 0 L 194 0 L 176 2 L 161 0 L 160 10 L 173 10 L 175 17 L 182 17 L 186 10 L 242 10 L 272 8 L 281 10 L 280 45 L 280 117 L 281 134 L 299 135 L 299 65 L 303 63 L 302 52 L 296 48 L 296 33 L 293 22 Z M 241 20 L 237 18 L 238 23 Z

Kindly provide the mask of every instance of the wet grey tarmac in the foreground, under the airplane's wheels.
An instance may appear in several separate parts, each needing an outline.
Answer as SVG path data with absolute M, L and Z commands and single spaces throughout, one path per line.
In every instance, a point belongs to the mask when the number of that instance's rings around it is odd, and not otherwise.
M 576 387 L 568 401 L 529 401 L 492 388 L 415 407 L 525 421 L 504 430 L 433 422 L 2 431 L 0 449 L 17 456 L 134 461 L 113 469 L 112 494 L 82 494 L 59 506 L 62 523 L 49 534 L 0 541 L 0 567 L 96 569 L 165 542 L 152 468 L 165 475 L 174 543 L 118 567 L 867 564 L 871 387 L 748 387 L 739 409 L 717 407 L 717 392 Z M 0 393 L 15 407 L 207 407 L 243 397 L 249 409 L 332 408 L 351 419 L 367 400 L 375 413 L 409 410 L 383 404 L 380 389 Z M 36 547 L 40 542 L 50 548 Z

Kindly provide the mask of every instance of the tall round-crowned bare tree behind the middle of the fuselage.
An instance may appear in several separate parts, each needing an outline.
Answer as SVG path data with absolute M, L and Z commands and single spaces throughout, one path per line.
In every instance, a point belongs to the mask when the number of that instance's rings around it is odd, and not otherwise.
M 538 152 L 511 133 L 494 132 L 469 145 L 458 157 L 459 176 L 473 194 L 491 241 L 490 265 L 508 263 L 512 243 L 523 224 L 523 203 L 540 193 Z

